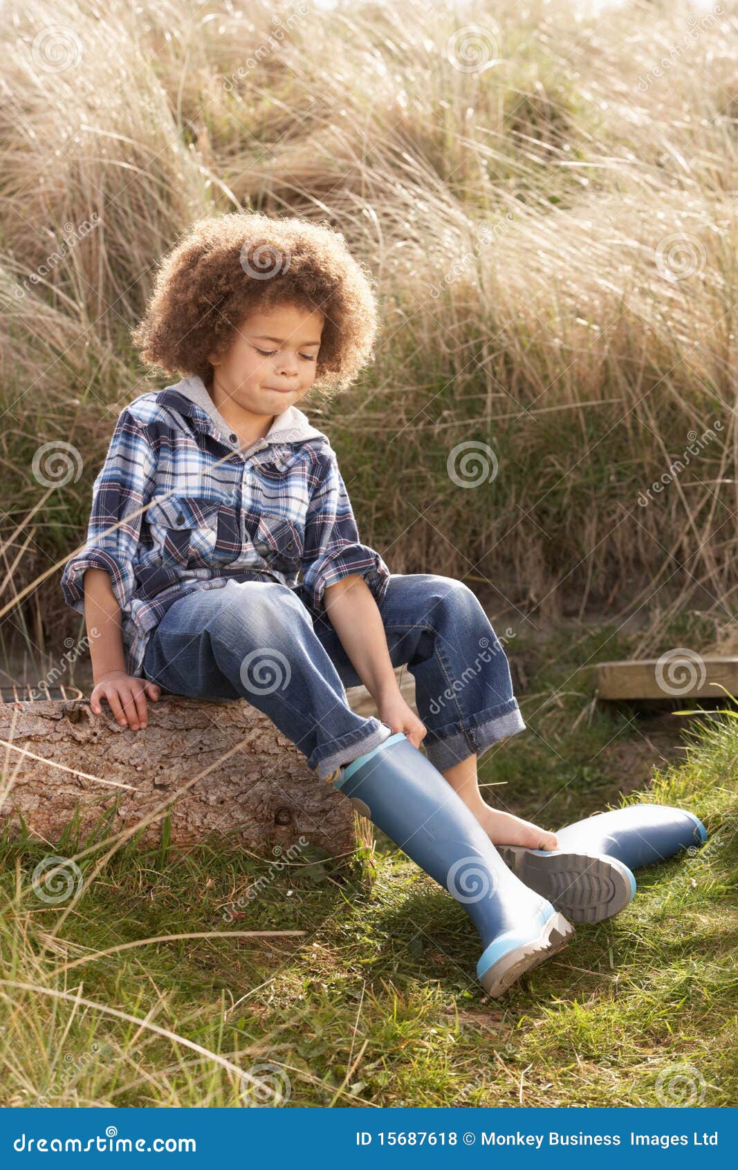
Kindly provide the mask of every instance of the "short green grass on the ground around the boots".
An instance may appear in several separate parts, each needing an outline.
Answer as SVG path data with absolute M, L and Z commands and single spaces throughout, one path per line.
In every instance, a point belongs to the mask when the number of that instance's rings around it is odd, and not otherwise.
M 463 908 L 386 838 L 344 868 L 319 856 L 287 866 L 230 923 L 223 909 L 270 859 L 222 840 L 187 853 L 129 845 L 95 876 L 96 855 L 81 859 L 80 896 L 46 904 L 34 867 L 85 842 L 6 839 L 0 1103 L 734 1104 L 737 721 L 675 718 L 685 758 L 649 783 L 653 748 L 637 722 L 589 710 L 591 684 L 570 679 L 570 662 L 608 658 L 613 645 L 608 631 L 579 642 L 560 631 L 545 646 L 518 635 L 511 658 L 540 655 L 527 731 L 490 751 L 481 778 L 496 785 L 488 799 L 551 827 L 618 805 L 636 778 L 632 798 L 705 821 L 706 846 L 640 870 L 616 918 L 578 927 L 565 951 L 490 1002 Z M 637 777 L 619 771 L 623 744 Z

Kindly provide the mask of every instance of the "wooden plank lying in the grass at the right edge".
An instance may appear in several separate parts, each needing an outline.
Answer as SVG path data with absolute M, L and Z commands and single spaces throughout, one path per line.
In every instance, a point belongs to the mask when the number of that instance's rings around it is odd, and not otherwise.
M 725 690 L 738 694 L 738 658 L 698 654 L 684 647 L 657 659 L 599 662 L 594 673 L 599 698 L 727 700 Z

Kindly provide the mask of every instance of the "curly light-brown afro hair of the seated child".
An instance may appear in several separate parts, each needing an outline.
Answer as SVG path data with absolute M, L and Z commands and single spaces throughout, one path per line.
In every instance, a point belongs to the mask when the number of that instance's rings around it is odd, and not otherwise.
M 326 222 L 234 212 L 195 220 L 163 257 L 142 321 L 142 360 L 167 376 L 199 374 L 256 310 L 296 304 L 325 316 L 315 386 L 344 390 L 373 358 L 377 300 L 368 270 Z

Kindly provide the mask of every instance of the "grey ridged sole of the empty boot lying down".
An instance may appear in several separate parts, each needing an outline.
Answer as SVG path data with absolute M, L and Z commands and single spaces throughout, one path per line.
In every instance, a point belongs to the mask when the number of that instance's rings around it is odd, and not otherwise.
M 601 922 L 620 914 L 635 894 L 635 878 L 602 854 L 545 852 L 519 845 L 497 851 L 516 878 L 573 922 Z

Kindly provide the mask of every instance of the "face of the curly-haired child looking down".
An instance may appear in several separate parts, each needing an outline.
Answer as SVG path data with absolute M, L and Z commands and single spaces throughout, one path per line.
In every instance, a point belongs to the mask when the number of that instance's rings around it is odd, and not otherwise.
M 214 363 L 219 391 L 253 414 L 281 414 L 315 381 L 324 321 L 319 310 L 291 304 L 249 314 Z

